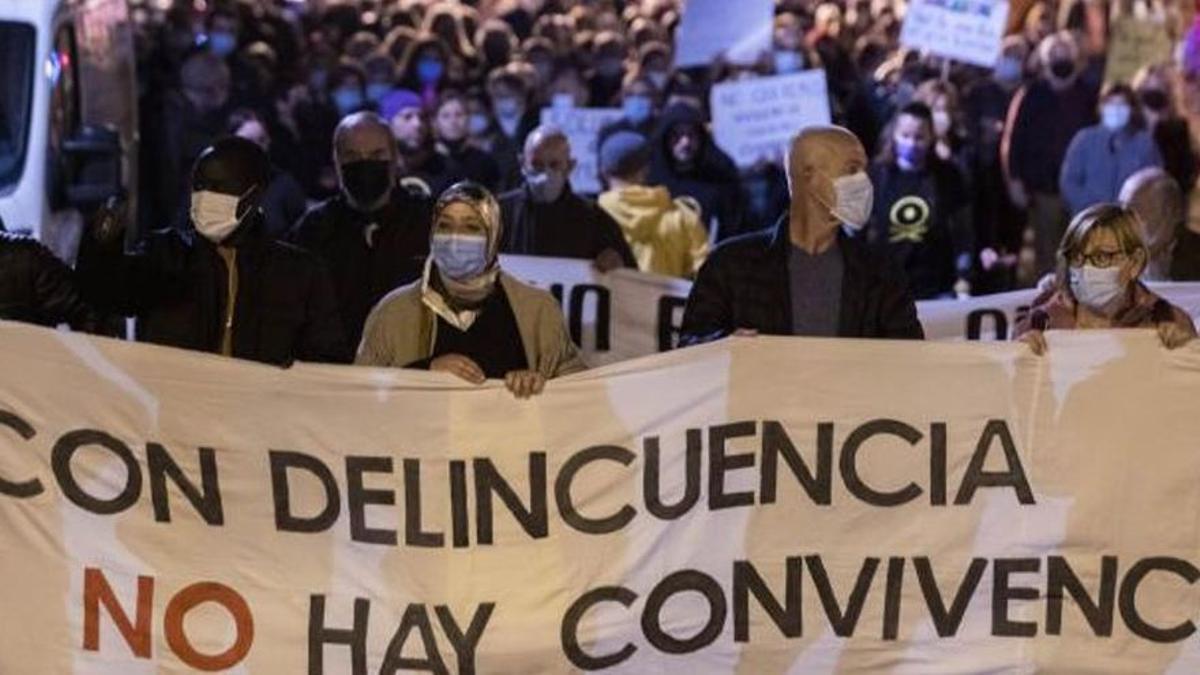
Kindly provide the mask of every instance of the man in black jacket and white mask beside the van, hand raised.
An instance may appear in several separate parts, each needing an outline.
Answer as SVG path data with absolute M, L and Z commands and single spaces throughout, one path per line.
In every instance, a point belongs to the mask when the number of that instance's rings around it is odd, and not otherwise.
M 85 293 L 137 317 L 145 342 L 276 365 L 348 362 L 325 268 L 265 235 L 259 204 L 270 174 L 253 142 L 218 141 L 192 171 L 186 229 L 155 232 L 131 253 L 116 219 L 83 238 Z

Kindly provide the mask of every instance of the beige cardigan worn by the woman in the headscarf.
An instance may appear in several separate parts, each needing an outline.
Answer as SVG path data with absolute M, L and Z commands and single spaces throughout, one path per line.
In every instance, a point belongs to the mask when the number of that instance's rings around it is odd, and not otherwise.
M 554 297 L 504 273 L 499 282 L 516 316 L 530 369 L 547 380 L 586 370 Z M 436 315 L 421 301 L 420 281 L 397 288 L 371 310 L 354 363 L 404 368 L 427 359 L 437 342 L 437 327 Z

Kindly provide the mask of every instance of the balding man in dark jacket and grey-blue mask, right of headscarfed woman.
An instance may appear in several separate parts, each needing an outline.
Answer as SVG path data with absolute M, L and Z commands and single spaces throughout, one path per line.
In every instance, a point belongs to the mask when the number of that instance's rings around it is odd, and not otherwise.
M 575 160 L 558 127 L 539 126 L 521 156 L 524 184 L 500 196 L 505 253 L 593 261 L 601 271 L 637 268 L 617 221 L 571 190 Z

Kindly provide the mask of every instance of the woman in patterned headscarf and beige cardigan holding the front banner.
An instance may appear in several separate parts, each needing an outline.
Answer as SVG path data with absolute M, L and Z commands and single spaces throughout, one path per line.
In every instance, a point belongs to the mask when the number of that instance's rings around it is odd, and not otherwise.
M 367 317 L 355 363 L 503 378 L 517 398 L 584 370 L 553 295 L 504 274 L 500 208 L 473 183 L 446 190 L 433 211 L 421 280 L 392 291 Z

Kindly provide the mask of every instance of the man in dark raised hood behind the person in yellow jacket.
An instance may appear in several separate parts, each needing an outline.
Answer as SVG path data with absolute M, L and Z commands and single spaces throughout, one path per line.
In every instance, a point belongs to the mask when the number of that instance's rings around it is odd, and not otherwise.
M 744 232 L 746 198 L 738 167 L 713 142 L 703 113 L 694 106 L 674 103 L 662 113 L 649 184 L 695 199 L 706 229 L 716 221 L 718 241 Z

